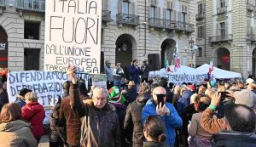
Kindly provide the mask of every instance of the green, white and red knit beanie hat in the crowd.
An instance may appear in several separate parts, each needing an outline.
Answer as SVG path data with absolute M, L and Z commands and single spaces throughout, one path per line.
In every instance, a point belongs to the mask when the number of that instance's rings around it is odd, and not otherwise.
M 120 90 L 118 87 L 113 87 L 109 89 L 108 101 L 110 103 L 119 103 L 123 105 L 126 99 L 123 95 L 120 94 Z

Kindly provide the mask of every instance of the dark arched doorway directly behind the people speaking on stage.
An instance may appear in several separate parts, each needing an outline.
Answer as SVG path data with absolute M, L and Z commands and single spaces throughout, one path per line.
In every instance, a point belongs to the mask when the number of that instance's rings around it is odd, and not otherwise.
M 132 61 L 132 50 L 137 49 L 137 43 L 129 34 L 123 34 L 118 37 L 115 42 L 115 64 L 120 62 L 125 71 L 125 76 L 128 78 L 128 67 Z

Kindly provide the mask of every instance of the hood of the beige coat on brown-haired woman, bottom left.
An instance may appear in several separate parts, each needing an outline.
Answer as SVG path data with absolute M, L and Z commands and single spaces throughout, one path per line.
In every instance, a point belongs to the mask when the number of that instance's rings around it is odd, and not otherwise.
M 4 122 L 0 124 L 0 131 L 14 132 L 21 127 L 30 127 L 30 124 L 21 120 L 16 120 L 14 122 Z

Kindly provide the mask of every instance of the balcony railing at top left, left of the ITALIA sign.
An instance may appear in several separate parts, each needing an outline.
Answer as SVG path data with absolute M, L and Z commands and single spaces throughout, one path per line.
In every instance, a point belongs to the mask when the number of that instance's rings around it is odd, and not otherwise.
M 44 0 L 16 0 L 16 8 L 26 11 L 45 12 Z

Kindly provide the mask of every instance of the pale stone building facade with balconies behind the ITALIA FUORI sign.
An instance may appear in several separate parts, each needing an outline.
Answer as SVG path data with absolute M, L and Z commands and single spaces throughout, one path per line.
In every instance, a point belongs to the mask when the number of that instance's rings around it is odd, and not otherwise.
M 44 0 L 0 2 L 9 70 L 43 70 Z M 148 54 L 160 54 L 162 66 L 165 58 L 172 64 L 176 43 L 182 64 L 195 64 L 186 52 L 189 40 L 195 41 L 195 11 L 189 0 L 102 0 L 102 65 L 107 59 L 112 66 L 127 67 L 132 59 L 142 64 Z

